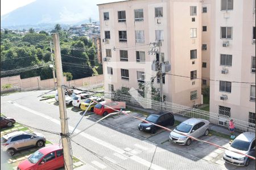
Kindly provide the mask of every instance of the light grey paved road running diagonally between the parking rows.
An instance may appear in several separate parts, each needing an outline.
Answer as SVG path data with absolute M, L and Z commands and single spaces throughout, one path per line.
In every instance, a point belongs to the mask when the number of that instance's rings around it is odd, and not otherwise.
M 43 92 L 47 91 L 1 96 L 1 113 L 25 125 L 60 132 L 59 107 L 39 101 L 40 97 L 37 96 Z M 79 113 L 71 108 L 67 109 L 69 131 L 73 130 L 81 118 Z M 90 116 L 84 117 L 75 133 L 94 121 Z M 59 135 L 43 131 L 40 133 L 44 134 L 48 141 L 60 142 Z M 83 146 L 72 142 L 73 155 L 95 169 L 223 169 L 193 154 L 175 148 L 167 149 L 166 145 L 134 137 L 106 124 L 96 124 L 72 140 Z

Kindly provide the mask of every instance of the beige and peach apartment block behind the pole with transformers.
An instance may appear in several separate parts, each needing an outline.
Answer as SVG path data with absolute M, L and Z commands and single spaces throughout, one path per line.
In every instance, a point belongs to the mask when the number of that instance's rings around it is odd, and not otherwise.
M 163 78 L 166 101 L 189 107 L 201 104 L 201 79 L 196 79 L 202 72 L 201 4 L 135 0 L 98 5 L 105 89 L 137 89 L 139 82 L 156 76 L 151 72 L 153 61 L 168 61 L 171 71 Z M 160 52 L 148 53 L 152 42 L 159 40 Z M 156 77 L 158 90 L 159 82 Z

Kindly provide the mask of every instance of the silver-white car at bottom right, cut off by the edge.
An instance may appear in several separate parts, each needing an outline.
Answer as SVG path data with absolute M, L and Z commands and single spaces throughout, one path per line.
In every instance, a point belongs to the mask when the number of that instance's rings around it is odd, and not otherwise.
M 223 154 L 223 159 L 226 163 L 247 167 L 250 163 L 249 158 L 232 151 L 255 156 L 255 133 L 245 132 L 238 135 L 228 149 L 229 150 L 226 150 Z

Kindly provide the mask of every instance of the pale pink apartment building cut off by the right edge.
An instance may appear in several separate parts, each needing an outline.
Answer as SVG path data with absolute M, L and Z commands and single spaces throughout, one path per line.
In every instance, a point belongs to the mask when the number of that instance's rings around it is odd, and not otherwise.
M 211 14 L 210 111 L 255 124 L 255 0 L 212 1 Z

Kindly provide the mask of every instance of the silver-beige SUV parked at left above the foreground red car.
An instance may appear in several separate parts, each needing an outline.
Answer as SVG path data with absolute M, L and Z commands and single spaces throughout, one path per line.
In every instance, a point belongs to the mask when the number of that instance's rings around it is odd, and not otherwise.
M 10 156 L 25 148 L 43 147 L 45 143 L 46 138 L 43 135 L 26 131 L 14 131 L 1 137 L 1 148 L 3 151 L 7 151 Z

